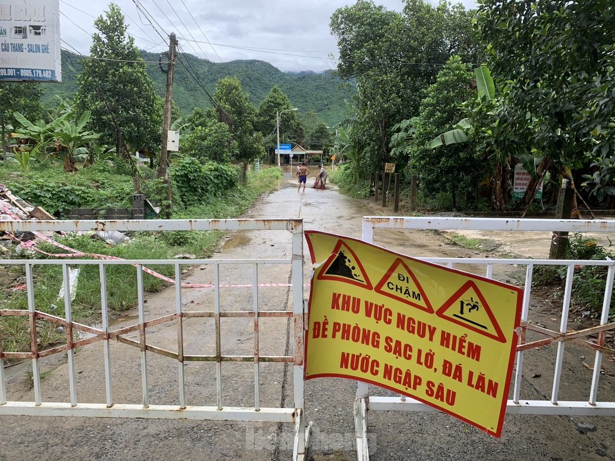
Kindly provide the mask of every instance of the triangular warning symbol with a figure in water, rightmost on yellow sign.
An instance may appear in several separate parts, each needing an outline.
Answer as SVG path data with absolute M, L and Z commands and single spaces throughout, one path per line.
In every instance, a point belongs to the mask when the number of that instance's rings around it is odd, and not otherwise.
M 472 280 L 468 280 L 448 298 L 436 315 L 496 341 L 506 342 L 498 320 Z

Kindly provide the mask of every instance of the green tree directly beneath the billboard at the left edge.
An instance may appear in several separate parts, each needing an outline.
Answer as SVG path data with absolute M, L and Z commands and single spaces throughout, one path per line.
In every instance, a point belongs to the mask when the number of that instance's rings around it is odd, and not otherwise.
M 26 119 L 37 120 L 41 117 L 41 85 L 34 83 L 0 83 L 0 130 L 2 136 L 2 160 L 6 161 L 6 128 L 17 127 L 15 112 Z

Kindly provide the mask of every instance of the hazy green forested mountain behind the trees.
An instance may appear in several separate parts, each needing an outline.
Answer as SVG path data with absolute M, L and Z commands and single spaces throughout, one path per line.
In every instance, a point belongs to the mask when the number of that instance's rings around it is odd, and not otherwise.
M 156 92 L 164 97 L 166 75 L 156 63 L 159 54 L 141 51 L 141 57 L 147 62 L 147 73 L 154 82 Z M 42 84 L 42 103 L 47 107 L 52 106 L 54 95 L 72 98 L 77 90 L 76 75 L 79 72 L 79 56 L 62 50 L 62 83 Z M 339 79 L 329 73 L 315 74 L 308 71 L 290 75 L 265 61 L 213 63 L 181 53 L 175 66 L 173 101 L 184 115 L 188 115 L 197 106 L 210 107 L 211 103 L 204 89 L 213 93 L 216 82 L 226 76 L 237 77 L 242 89 L 248 93 L 250 101 L 255 105 L 260 103 L 274 85 L 278 85 L 301 112 L 313 109 L 320 119 L 331 127 L 344 119 L 344 101 L 349 100 L 351 92 L 354 92 L 352 86 L 340 89 Z

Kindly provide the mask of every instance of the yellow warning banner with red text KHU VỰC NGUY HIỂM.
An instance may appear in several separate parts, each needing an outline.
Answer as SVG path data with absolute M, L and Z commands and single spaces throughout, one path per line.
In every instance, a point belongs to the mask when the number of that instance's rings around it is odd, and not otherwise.
M 499 436 L 523 291 L 306 231 L 314 269 L 304 372 L 411 396 Z

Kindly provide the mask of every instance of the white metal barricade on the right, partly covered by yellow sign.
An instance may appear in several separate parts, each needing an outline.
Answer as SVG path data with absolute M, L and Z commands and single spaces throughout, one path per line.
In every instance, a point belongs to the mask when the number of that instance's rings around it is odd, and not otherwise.
M 436 217 L 363 217 L 362 239 L 374 243 L 374 229 L 433 229 L 433 230 L 528 230 L 547 232 L 608 232 L 615 235 L 615 221 L 595 220 L 580 221 L 576 219 L 504 219 L 504 218 L 436 218 Z M 486 266 L 485 276 L 492 277 L 493 267 L 498 265 L 526 266 L 525 291 L 521 318 L 521 333 L 517 345 L 516 366 L 514 375 L 513 398 L 507 401 L 506 412 L 509 414 L 551 414 L 551 415 L 590 415 L 615 416 L 614 401 L 597 401 L 598 382 L 603 355 L 615 356 L 615 350 L 605 347 L 605 332 L 614 331 L 615 323 L 608 323 L 615 261 L 579 261 L 579 260 L 546 260 L 546 259 L 496 259 L 496 258 L 421 258 L 435 264 L 446 264 L 448 267 L 464 264 L 480 264 Z M 540 265 L 566 266 L 565 291 L 561 307 L 561 323 L 559 331 L 551 331 L 538 325 L 528 323 L 530 307 L 531 284 L 534 268 Z M 608 267 L 605 283 L 605 294 L 600 316 L 600 325 L 568 333 L 568 314 L 571 300 L 571 289 L 575 267 L 579 266 Z M 459 269 L 462 269 L 460 267 Z M 546 339 L 526 342 L 526 331 L 544 334 Z M 590 341 L 587 336 L 598 334 L 598 341 Z M 587 401 L 562 401 L 558 399 L 560 390 L 561 369 L 565 342 L 574 342 L 582 347 L 595 350 L 592 382 Z M 523 354 L 525 350 L 557 342 L 555 358 L 555 375 L 550 400 L 524 400 L 521 393 L 523 373 Z M 357 436 L 357 455 L 359 460 L 368 460 L 367 443 L 367 413 L 368 411 L 438 411 L 418 400 L 405 396 L 388 397 L 370 395 L 369 385 L 358 382 L 357 398 L 355 400 L 355 433 Z

